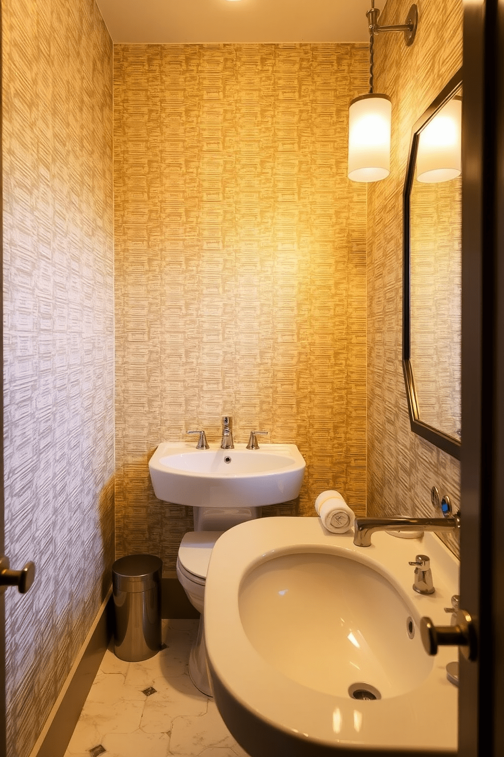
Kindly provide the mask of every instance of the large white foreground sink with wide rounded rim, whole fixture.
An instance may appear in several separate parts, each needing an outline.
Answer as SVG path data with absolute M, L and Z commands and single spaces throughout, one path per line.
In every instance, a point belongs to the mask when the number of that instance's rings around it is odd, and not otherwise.
M 430 596 L 413 591 L 419 552 Z M 458 562 L 434 534 L 376 533 L 364 550 L 317 518 L 251 521 L 215 544 L 205 592 L 215 702 L 251 757 L 456 750 L 457 650 L 429 657 L 419 633 L 422 615 L 446 625 L 458 593 Z

